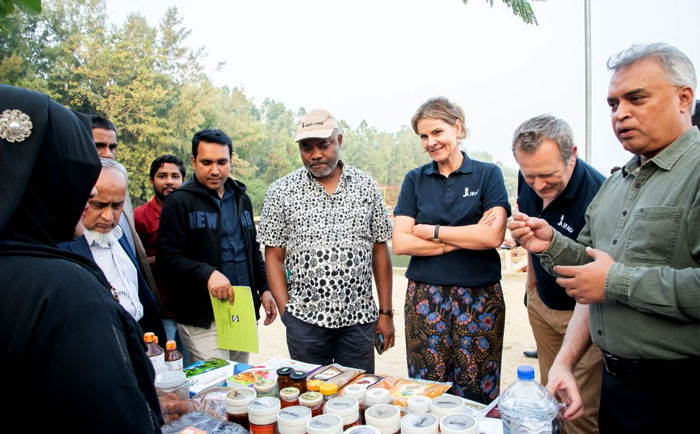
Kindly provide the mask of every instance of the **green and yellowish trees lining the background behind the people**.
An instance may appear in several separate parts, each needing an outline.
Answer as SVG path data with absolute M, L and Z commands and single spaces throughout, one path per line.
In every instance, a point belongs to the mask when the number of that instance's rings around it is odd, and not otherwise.
M 189 177 L 192 135 L 223 130 L 233 140 L 231 173 L 246 184 L 259 214 L 268 186 L 302 165 L 294 133 L 306 110 L 272 99 L 256 105 L 242 89 L 214 86 L 202 72 L 202 50 L 186 45 L 190 31 L 176 8 L 155 27 L 138 14 L 110 25 L 105 10 L 104 0 L 52 0 L 41 15 L 13 15 L 8 37 L 0 38 L 0 82 L 110 118 L 135 204 L 153 194 L 148 170 L 156 157 L 180 157 Z M 406 173 L 430 161 L 408 127 L 390 133 L 365 121 L 340 126 L 343 161 L 373 176 L 390 206 Z M 470 155 L 492 160 L 485 152 Z M 504 168 L 504 175 L 513 194 L 517 172 Z

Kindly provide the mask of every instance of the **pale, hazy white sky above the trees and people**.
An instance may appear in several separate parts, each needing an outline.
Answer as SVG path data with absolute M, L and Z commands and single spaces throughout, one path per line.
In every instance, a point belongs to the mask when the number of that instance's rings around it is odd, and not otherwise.
M 435 96 L 460 105 L 469 151 L 516 167 L 515 128 L 550 113 L 572 126 L 585 154 L 584 1 L 533 1 L 538 26 L 500 0 L 107 0 L 112 21 L 129 13 L 156 25 L 176 6 L 187 40 L 204 47 L 216 85 L 287 108 L 325 108 L 352 127 L 409 125 Z M 607 58 L 663 41 L 700 69 L 700 1 L 591 0 L 592 164 L 607 174 L 631 154 L 612 133 Z M 221 62 L 224 66 L 217 68 Z M 416 141 L 416 146 L 419 146 Z M 345 146 L 351 145 L 345 143 Z

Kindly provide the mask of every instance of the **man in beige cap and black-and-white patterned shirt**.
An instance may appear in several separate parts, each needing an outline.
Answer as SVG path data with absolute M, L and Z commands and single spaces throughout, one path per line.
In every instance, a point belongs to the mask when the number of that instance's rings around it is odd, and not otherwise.
M 375 339 L 394 344 L 391 221 L 374 179 L 340 160 L 330 113 L 304 115 L 295 141 L 304 167 L 270 186 L 258 230 L 289 355 L 373 373 Z

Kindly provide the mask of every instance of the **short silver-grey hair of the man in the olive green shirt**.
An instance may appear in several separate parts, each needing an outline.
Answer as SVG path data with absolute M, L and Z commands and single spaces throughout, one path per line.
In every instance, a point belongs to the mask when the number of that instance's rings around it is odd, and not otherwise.
M 644 59 L 657 59 L 666 72 L 668 81 L 680 87 L 689 86 L 695 93 L 698 85 L 695 67 L 688 56 L 673 45 L 665 42 L 634 44 L 608 58 L 608 69 L 617 72 Z M 695 107 L 691 108 L 691 114 Z

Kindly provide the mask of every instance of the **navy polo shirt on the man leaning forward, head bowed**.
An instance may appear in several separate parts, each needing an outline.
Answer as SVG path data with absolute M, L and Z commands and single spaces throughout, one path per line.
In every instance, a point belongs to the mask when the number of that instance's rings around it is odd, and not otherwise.
M 544 210 L 542 198 L 525 182 L 518 172 L 518 209 L 532 217 L 547 220 L 562 235 L 576 239 L 586 224 L 586 208 L 598 193 L 605 177 L 586 162 L 576 159 L 576 167 L 569 183 Z M 550 309 L 573 310 L 576 300 L 566 294 L 556 278 L 549 274 L 537 255 L 530 255 L 532 270 L 537 279 L 537 293 Z

